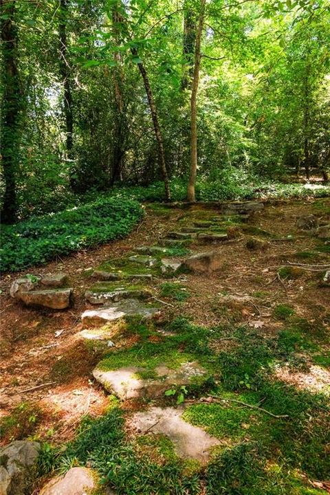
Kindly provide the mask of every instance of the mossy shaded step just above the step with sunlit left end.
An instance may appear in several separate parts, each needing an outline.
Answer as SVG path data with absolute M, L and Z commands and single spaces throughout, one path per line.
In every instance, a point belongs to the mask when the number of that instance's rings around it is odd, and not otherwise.
M 129 285 L 120 282 L 96 282 L 87 292 L 85 299 L 91 304 L 117 303 L 122 299 L 146 299 L 151 291 L 143 285 Z

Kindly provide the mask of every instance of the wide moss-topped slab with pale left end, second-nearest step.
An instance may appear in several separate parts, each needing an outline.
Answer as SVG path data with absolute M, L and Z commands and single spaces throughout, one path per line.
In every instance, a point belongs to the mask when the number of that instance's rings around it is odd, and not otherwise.
M 111 360 L 111 358 L 109 358 Z M 207 372 L 197 362 L 186 362 L 179 369 L 169 369 L 166 364 L 155 369 L 156 378 L 142 379 L 139 373 L 148 371 L 144 368 L 127 366 L 118 370 L 104 371 L 107 359 L 101 361 L 94 369 L 94 378 L 109 392 L 120 399 L 135 399 L 139 397 L 159 397 L 170 386 L 188 386 L 193 378 L 203 377 Z

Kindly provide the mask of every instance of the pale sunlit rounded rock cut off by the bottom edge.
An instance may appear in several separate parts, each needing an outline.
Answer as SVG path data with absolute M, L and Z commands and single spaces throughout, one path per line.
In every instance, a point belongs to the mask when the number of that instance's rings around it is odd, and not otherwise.
M 97 487 L 98 476 L 87 467 L 72 467 L 65 476 L 56 476 L 39 495 L 87 495 Z

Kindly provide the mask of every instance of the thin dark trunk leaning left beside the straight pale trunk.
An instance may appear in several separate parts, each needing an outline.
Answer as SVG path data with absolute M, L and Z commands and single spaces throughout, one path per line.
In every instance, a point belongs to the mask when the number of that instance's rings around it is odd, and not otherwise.
M 131 52 L 134 56 L 137 56 L 137 50 L 135 48 L 132 48 Z M 164 143 L 163 143 L 163 138 L 162 138 L 162 132 L 161 132 L 160 126 L 159 126 L 159 120 L 158 120 L 155 100 L 153 99 L 153 91 L 151 90 L 151 85 L 149 83 L 148 74 L 146 74 L 146 69 L 145 69 L 143 63 L 139 62 L 137 64 L 137 66 L 139 67 L 140 74 L 141 74 L 143 82 L 144 82 L 144 87 L 146 89 L 146 96 L 148 98 L 149 107 L 150 107 L 151 115 L 153 118 L 153 129 L 155 131 L 155 136 L 156 136 L 156 140 L 157 140 L 157 144 L 158 144 L 159 162 L 160 162 L 160 168 L 162 171 L 162 177 L 163 177 L 164 186 L 165 186 L 165 199 L 166 199 L 166 201 L 170 201 L 170 185 L 168 182 L 168 173 L 167 173 L 167 169 L 166 169 Z

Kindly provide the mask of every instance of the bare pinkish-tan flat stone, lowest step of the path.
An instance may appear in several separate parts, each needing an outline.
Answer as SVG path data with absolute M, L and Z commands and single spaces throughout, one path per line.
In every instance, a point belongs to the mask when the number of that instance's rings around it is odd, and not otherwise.
M 129 426 L 136 434 L 146 431 L 164 434 L 173 441 L 178 456 L 205 464 L 210 459 L 210 450 L 220 441 L 202 428 L 184 421 L 181 417 L 183 412 L 184 408 L 152 407 L 144 412 L 135 412 L 129 419 Z

